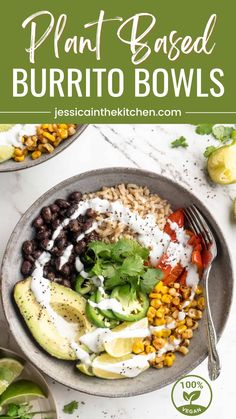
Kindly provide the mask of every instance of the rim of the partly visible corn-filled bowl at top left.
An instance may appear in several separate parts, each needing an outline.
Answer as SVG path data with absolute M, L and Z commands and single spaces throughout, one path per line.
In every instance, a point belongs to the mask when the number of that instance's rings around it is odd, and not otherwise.
M 25 160 L 21 163 L 15 162 L 16 168 L 10 167 L 8 169 L 4 169 L 4 163 L 7 163 L 9 160 L 6 160 L 6 162 L 0 163 L 0 174 L 1 173 L 10 173 L 10 172 L 19 172 L 20 170 L 30 169 L 31 167 L 38 166 L 39 164 L 46 163 L 48 160 L 52 159 L 53 157 L 60 154 L 63 150 L 68 148 L 77 138 L 84 132 L 84 130 L 89 126 L 89 124 L 78 124 L 77 131 L 75 134 L 73 134 L 71 137 L 69 137 L 65 142 L 59 144 L 58 147 L 54 149 L 52 153 L 43 154 L 41 157 L 39 157 L 36 160 Z M 1 176 L 1 175 L 0 175 Z

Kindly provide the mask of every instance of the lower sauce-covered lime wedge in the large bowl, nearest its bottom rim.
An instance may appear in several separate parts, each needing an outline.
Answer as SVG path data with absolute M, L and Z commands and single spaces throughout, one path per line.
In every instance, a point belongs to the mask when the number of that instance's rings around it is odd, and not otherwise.
M 142 356 L 143 355 L 129 354 L 120 358 L 113 358 L 108 354 L 99 355 L 93 360 L 93 373 L 96 375 L 96 377 L 105 378 L 107 380 L 126 378 L 122 372 L 124 372 L 125 368 L 130 370 L 130 366 L 128 366 L 129 362 L 132 361 L 135 357 Z M 148 368 L 148 362 L 143 363 L 143 366 L 139 368 L 137 375 Z

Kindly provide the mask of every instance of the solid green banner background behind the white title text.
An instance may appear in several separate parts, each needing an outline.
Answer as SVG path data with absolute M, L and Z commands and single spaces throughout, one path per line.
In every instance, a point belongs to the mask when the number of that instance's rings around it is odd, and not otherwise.
M 2 2 L 3 3 L 3 2 Z M 197 55 L 191 53 L 181 56 L 177 61 L 171 62 L 163 53 L 152 53 L 152 55 L 139 67 L 147 68 L 149 71 L 155 68 L 171 67 L 175 69 L 202 68 L 203 89 L 209 90 L 209 72 L 212 68 L 222 68 L 225 77 L 223 84 L 225 94 L 221 98 L 197 98 L 196 88 L 192 90 L 189 98 L 176 98 L 173 89 L 165 98 L 157 98 L 150 94 L 146 98 L 134 97 L 134 68 L 131 63 L 129 46 L 123 44 L 116 35 L 119 26 L 118 22 L 108 23 L 104 26 L 102 36 L 102 58 L 97 61 L 95 54 L 85 53 L 83 55 L 64 54 L 61 59 L 54 57 L 53 36 L 44 43 L 36 52 L 35 68 L 39 73 L 38 82 L 40 85 L 40 70 L 43 67 L 61 68 L 97 68 L 107 70 L 118 67 L 125 73 L 125 92 L 120 98 L 112 98 L 108 95 L 106 83 L 104 83 L 103 97 L 97 98 L 50 98 L 49 95 L 43 98 L 34 98 L 30 93 L 24 98 L 12 97 L 12 69 L 29 69 L 28 54 L 25 48 L 29 46 L 29 27 L 21 28 L 22 22 L 32 13 L 39 10 L 49 10 L 58 18 L 61 13 L 68 15 L 68 23 L 62 37 L 74 35 L 89 36 L 95 38 L 95 29 L 83 29 L 87 22 L 97 20 L 99 11 L 103 9 L 107 18 L 122 16 L 124 19 L 135 13 L 148 12 L 157 17 L 157 23 L 151 34 L 148 35 L 149 45 L 152 46 L 157 37 L 169 34 L 171 30 L 177 30 L 179 35 L 191 35 L 193 37 L 203 34 L 205 25 L 211 14 L 218 15 L 217 24 L 211 38 L 216 42 L 216 48 L 210 55 Z M 79 122 L 79 123 L 199 123 L 199 122 L 234 122 L 233 114 L 211 114 L 211 115 L 188 115 L 186 111 L 199 112 L 236 112 L 236 74 L 235 74 L 235 0 L 7 0 L 1 4 L 1 69 L 0 69 L 0 112 L 8 111 L 51 111 L 52 116 L 32 114 L 0 114 L 0 122 L 49 122 L 53 121 L 54 108 L 87 109 L 90 107 L 100 108 L 140 108 L 140 109 L 181 109 L 181 117 L 83 117 L 79 121 L 71 117 L 61 117 L 57 122 Z M 212 85 L 212 83 L 210 83 Z M 171 86 L 171 83 L 170 83 Z M 193 87 L 196 85 L 194 84 Z M 93 90 L 93 83 L 91 85 Z M 56 121 L 55 121 L 56 122 Z

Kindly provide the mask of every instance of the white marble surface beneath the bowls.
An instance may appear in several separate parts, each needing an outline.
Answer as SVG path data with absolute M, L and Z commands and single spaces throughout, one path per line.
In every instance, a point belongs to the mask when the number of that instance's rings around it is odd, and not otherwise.
M 171 149 L 170 142 L 184 135 L 188 149 Z M 214 144 L 211 139 L 210 143 Z M 194 133 L 188 125 L 98 125 L 90 126 L 71 147 L 47 163 L 22 172 L 0 175 L 0 259 L 13 227 L 24 211 L 42 193 L 58 182 L 86 170 L 130 166 L 152 170 L 175 179 L 191 189 L 218 219 L 231 248 L 236 269 L 236 222 L 230 217 L 236 186 L 210 184 L 204 172 L 203 150 L 208 137 Z M 225 278 L 227 280 L 227 278 Z M 0 307 L 0 344 L 16 348 L 9 336 Z M 234 403 L 236 373 L 236 305 L 235 300 L 223 338 L 219 343 L 222 374 L 212 384 L 213 403 L 204 413 L 208 419 L 231 418 Z M 194 374 L 207 378 L 204 362 Z M 72 400 L 80 402 L 81 419 L 162 419 L 183 417 L 171 404 L 171 386 L 148 395 L 130 399 L 106 399 L 69 390 L 48 379 L 58 403 L 61 419 L 77 417 L 62 413 L 62 406 Z

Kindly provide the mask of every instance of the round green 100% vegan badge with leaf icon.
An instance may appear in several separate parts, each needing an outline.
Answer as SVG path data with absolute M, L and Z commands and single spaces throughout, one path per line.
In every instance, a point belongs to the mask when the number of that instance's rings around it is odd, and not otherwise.
M 191 400 L 190 400 L 189 403 L 186 403 L 185 405 L 182 405 L 182 406 L 179 406 L 179 407 L 176 405 L 175 400 L 174 400 L 174 391 L 175 391 L 175 388 L 176 388 L 177 384 L 180 383 L 185 378 L 191 378 L 191 379 L 193 379 L 193 378 L 196 379 L 197 378 L 198 380 L 200 379 L 200 380 L 202 380 L 206 383 L 208 389 L 210 390 L 210 400 L 209 400 L 209 403 L 208 403 L 207 406 L 202 406 L 202 405 L 198 404 L 197 402 L 192 403 Z M 198 390 L 198 391 L 195 391 L 195 392 L 192 393 L 192 397 L 193 397 L 192 400 L 195 401 L 200 396 L 199 392 L 200 391 Z M 189 396 L 188 393 L 186 393 L 186 394 L 187 394 L 186 397 L 188 397 Z M 185 375 L 184 377 L 181 377 L 178 381 L 176 381 L 176 383 L 172 387 L 172 391 L 171 391 L 171 400 L 172 400 L 172 403 L 173 403 L 174 407 L 176 408 L 176 410 L 178 410 L 178 412 L 182 413 L 185 416 L 198 416 L 198 415 L 201 415 L 202 413 L 204 413 L 210 407 L 211 402 L 212 402 L 212 397 L 213 397 L 213 395 L 212 395 L 212 389 L 211 389 L 210 384 L 205 380 L 205 378 L 200 377 L 200 375 Z

